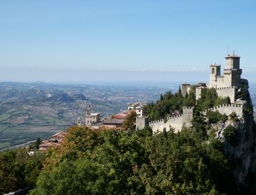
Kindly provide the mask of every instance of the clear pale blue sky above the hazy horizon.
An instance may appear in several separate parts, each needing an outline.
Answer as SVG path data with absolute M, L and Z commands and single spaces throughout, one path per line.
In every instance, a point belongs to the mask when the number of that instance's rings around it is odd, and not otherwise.
M 255 0 L 0 1 L 0 81 L 208 80 L 256 73 Z

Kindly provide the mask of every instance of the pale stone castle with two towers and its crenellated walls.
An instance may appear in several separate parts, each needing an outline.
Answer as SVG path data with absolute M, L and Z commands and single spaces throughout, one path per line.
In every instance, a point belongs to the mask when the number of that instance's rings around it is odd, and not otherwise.
M 230 105 L 220 105 L 216 108 L 210 108 L 203 112 L 204 115 L 208 111 L 218 111 L 220 114 L 230 115 L 235 112 L 238 117 L 243 116 L 243 104 L 240 100 L 237 100 L 237 93 L 239 91 L 247 91 L 248 81 L 241 79 L 242 69 L 240 69 L 240 56 L 236 54 L 228 54 L 226 56 L 226 67 L 221 75 L 221 65 L 210 65 L 210 81 L 206 83 L 198 83 L 197 85 L 191 85 L 189 83 L 183 83 L 181 85 L 181 93 L 185 97 L 191 89 L 195 87 L 195 98 L 199 100 L 201 97 L 201 91 L 204 88 L 214 88 L 218 94 L 218 97 L 230 97 Z M 193 118 L 193 108 L 183 108 L 183 114 L 175 115 L 164 119 L 148 122 L 146 116 L 137 116 L 136 128 L 141 129 L 148 124 L 154 133 L 162 132 L 164 129 L 167 131 L 170 128 L 174 128 L 175 132 L 178 132 L 183 126 L 191 126 L 191 120 Z

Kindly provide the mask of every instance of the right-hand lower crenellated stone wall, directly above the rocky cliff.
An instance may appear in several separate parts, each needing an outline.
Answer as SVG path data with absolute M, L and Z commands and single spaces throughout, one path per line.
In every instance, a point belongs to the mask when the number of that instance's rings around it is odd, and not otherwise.
M 243 106 L 242 105 L 221 105 L 221 106 L 218 106 L 218 107 L 214 107 L 214 108 L 210 108 L 208 110 L 205 110 L 203 112 L 204 115 L 207 114 L 207 112 L 209 111 L 218 111 L 220 112 L 220 114 L 226 114 L 226 115 L 230 115 L 232 112 L 235 112 L 236 115 L 238 117 L 242 117 L 243 116 Z

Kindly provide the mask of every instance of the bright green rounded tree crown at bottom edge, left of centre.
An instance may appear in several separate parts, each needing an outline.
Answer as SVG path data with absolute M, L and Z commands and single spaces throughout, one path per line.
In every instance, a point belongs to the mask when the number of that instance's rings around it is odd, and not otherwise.
M 103 166 L 88 159 L 65 160 L 42 172 L 30 194 L 106 194 L 107 175 Z

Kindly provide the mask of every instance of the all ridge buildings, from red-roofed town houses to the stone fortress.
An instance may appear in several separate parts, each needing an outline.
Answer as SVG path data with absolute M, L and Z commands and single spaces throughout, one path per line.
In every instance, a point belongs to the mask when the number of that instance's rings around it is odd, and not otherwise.
M 221 114 L 229 115 L 235 112 L 237 116 L 243 116 L 243 104 L 245 102 L 239 100 L 237 95 L 239 92 L 244 92 L 248 90 L 248 81 L 246 79 L 241 79 L 242 69 L 240 69 L 240 56 L 233 54 L 228 54 L 226 56 L 226 68 L 224 69 L 224 75 L 221 75 L 221 65 L 210 65 L 210 82 L 190 84 L 183 83 L 181 85 L 181 93 L 185 97 L 189 91 L 195 88 L 196 100 L 201 97 L 202 89 L 214 88 L 218 94 L 218 97 L 230 97 L 230 105 L 220 105 L 216 108 L 210 108 L 212 111 L 218 111 Z M 77 118 L 77 126 L 88 126 L 94 129 L 107 129 L 107 128 L 122 128 L 122 124 L 131 114 L 131 112 L 136 112 L 136 129 L 142 129 L 145 126 L 150 126 L 154 133 L 162 132 L 164 129 L 169 130 L 173 128 L 176 132 L 181 130 L 183 126 L 191 126 L 191 120 L 193 118 L 193 108 L 183 108 L 183 113 L 179 113 L 178 110 L 174 110 L 167 118 L 167 120 L 160 119 L 156 121 L 148 121 L 148 117 L 143 114 L 143 107 L 146 103 L 137 102 L 135 104 L 130 104 L 127 110 L 119 112 L 113 115 L 111 118 L 102 119 L 100 112 L 92 113 L 91 105 L 86 106 L 86 118 L 84 124 L 82 123 L 82 118 Z M 207 114 L 209 110 L 202 112 Z M 51 146 L 59 146 L 61 141 L 65 137 L 65 132 L 59 132 L 48 141 L 43 141 L 40 145 L 40 150 L 44 151 Z

